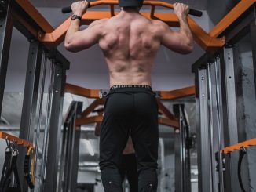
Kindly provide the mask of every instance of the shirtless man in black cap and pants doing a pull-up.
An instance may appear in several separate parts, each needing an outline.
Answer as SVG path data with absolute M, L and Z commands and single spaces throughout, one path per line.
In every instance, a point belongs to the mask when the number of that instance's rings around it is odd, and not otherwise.
M 99 44 L 108 64 L 110 92 L 104 105 L 100 138 L 101 179 L 105 191 L 120 192 L 118 168 L 129 134 L 137 156 L 139 191 L 157 190 L 158 106 L 151 89 L 152 63 L 160 45 L 177 53 L 191 53 L 188 5 L 174 4 L 180 31 L 160 20 L 148 20 L 139 10 L 143 0 L 119 0 L 121 11 L 111 19 L 96 20 L 79 31 L 88 2 L 71 5 L 74 13 L 65 38 L 71 52 Z

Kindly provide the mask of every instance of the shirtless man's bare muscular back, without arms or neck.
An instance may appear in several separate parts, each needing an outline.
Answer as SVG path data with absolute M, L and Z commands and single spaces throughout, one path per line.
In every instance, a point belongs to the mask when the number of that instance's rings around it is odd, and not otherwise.
M 106 20 L 99 45 L 108 63 L 110 85 L 151 85 L 151 68 L 160 46 L 154 20 L 120 13 Z

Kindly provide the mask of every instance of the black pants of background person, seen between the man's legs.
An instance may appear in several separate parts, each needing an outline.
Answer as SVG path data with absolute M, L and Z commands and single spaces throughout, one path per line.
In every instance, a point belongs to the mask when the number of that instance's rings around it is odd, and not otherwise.
M 122 164 L 119 168 L 122 182 L 125 177 L 130 185 L 130 191 L 138 192 L 137 159 L 135 154 L 123 154 Z

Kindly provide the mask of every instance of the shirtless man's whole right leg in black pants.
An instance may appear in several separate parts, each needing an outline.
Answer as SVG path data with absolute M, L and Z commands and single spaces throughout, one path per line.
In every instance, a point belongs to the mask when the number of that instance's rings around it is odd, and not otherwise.
M 137 156 L 139 191 L 157 190 L 158 106 L 152 92 L 134 95 L 135 124 L 131 129 L 133 147 Z

